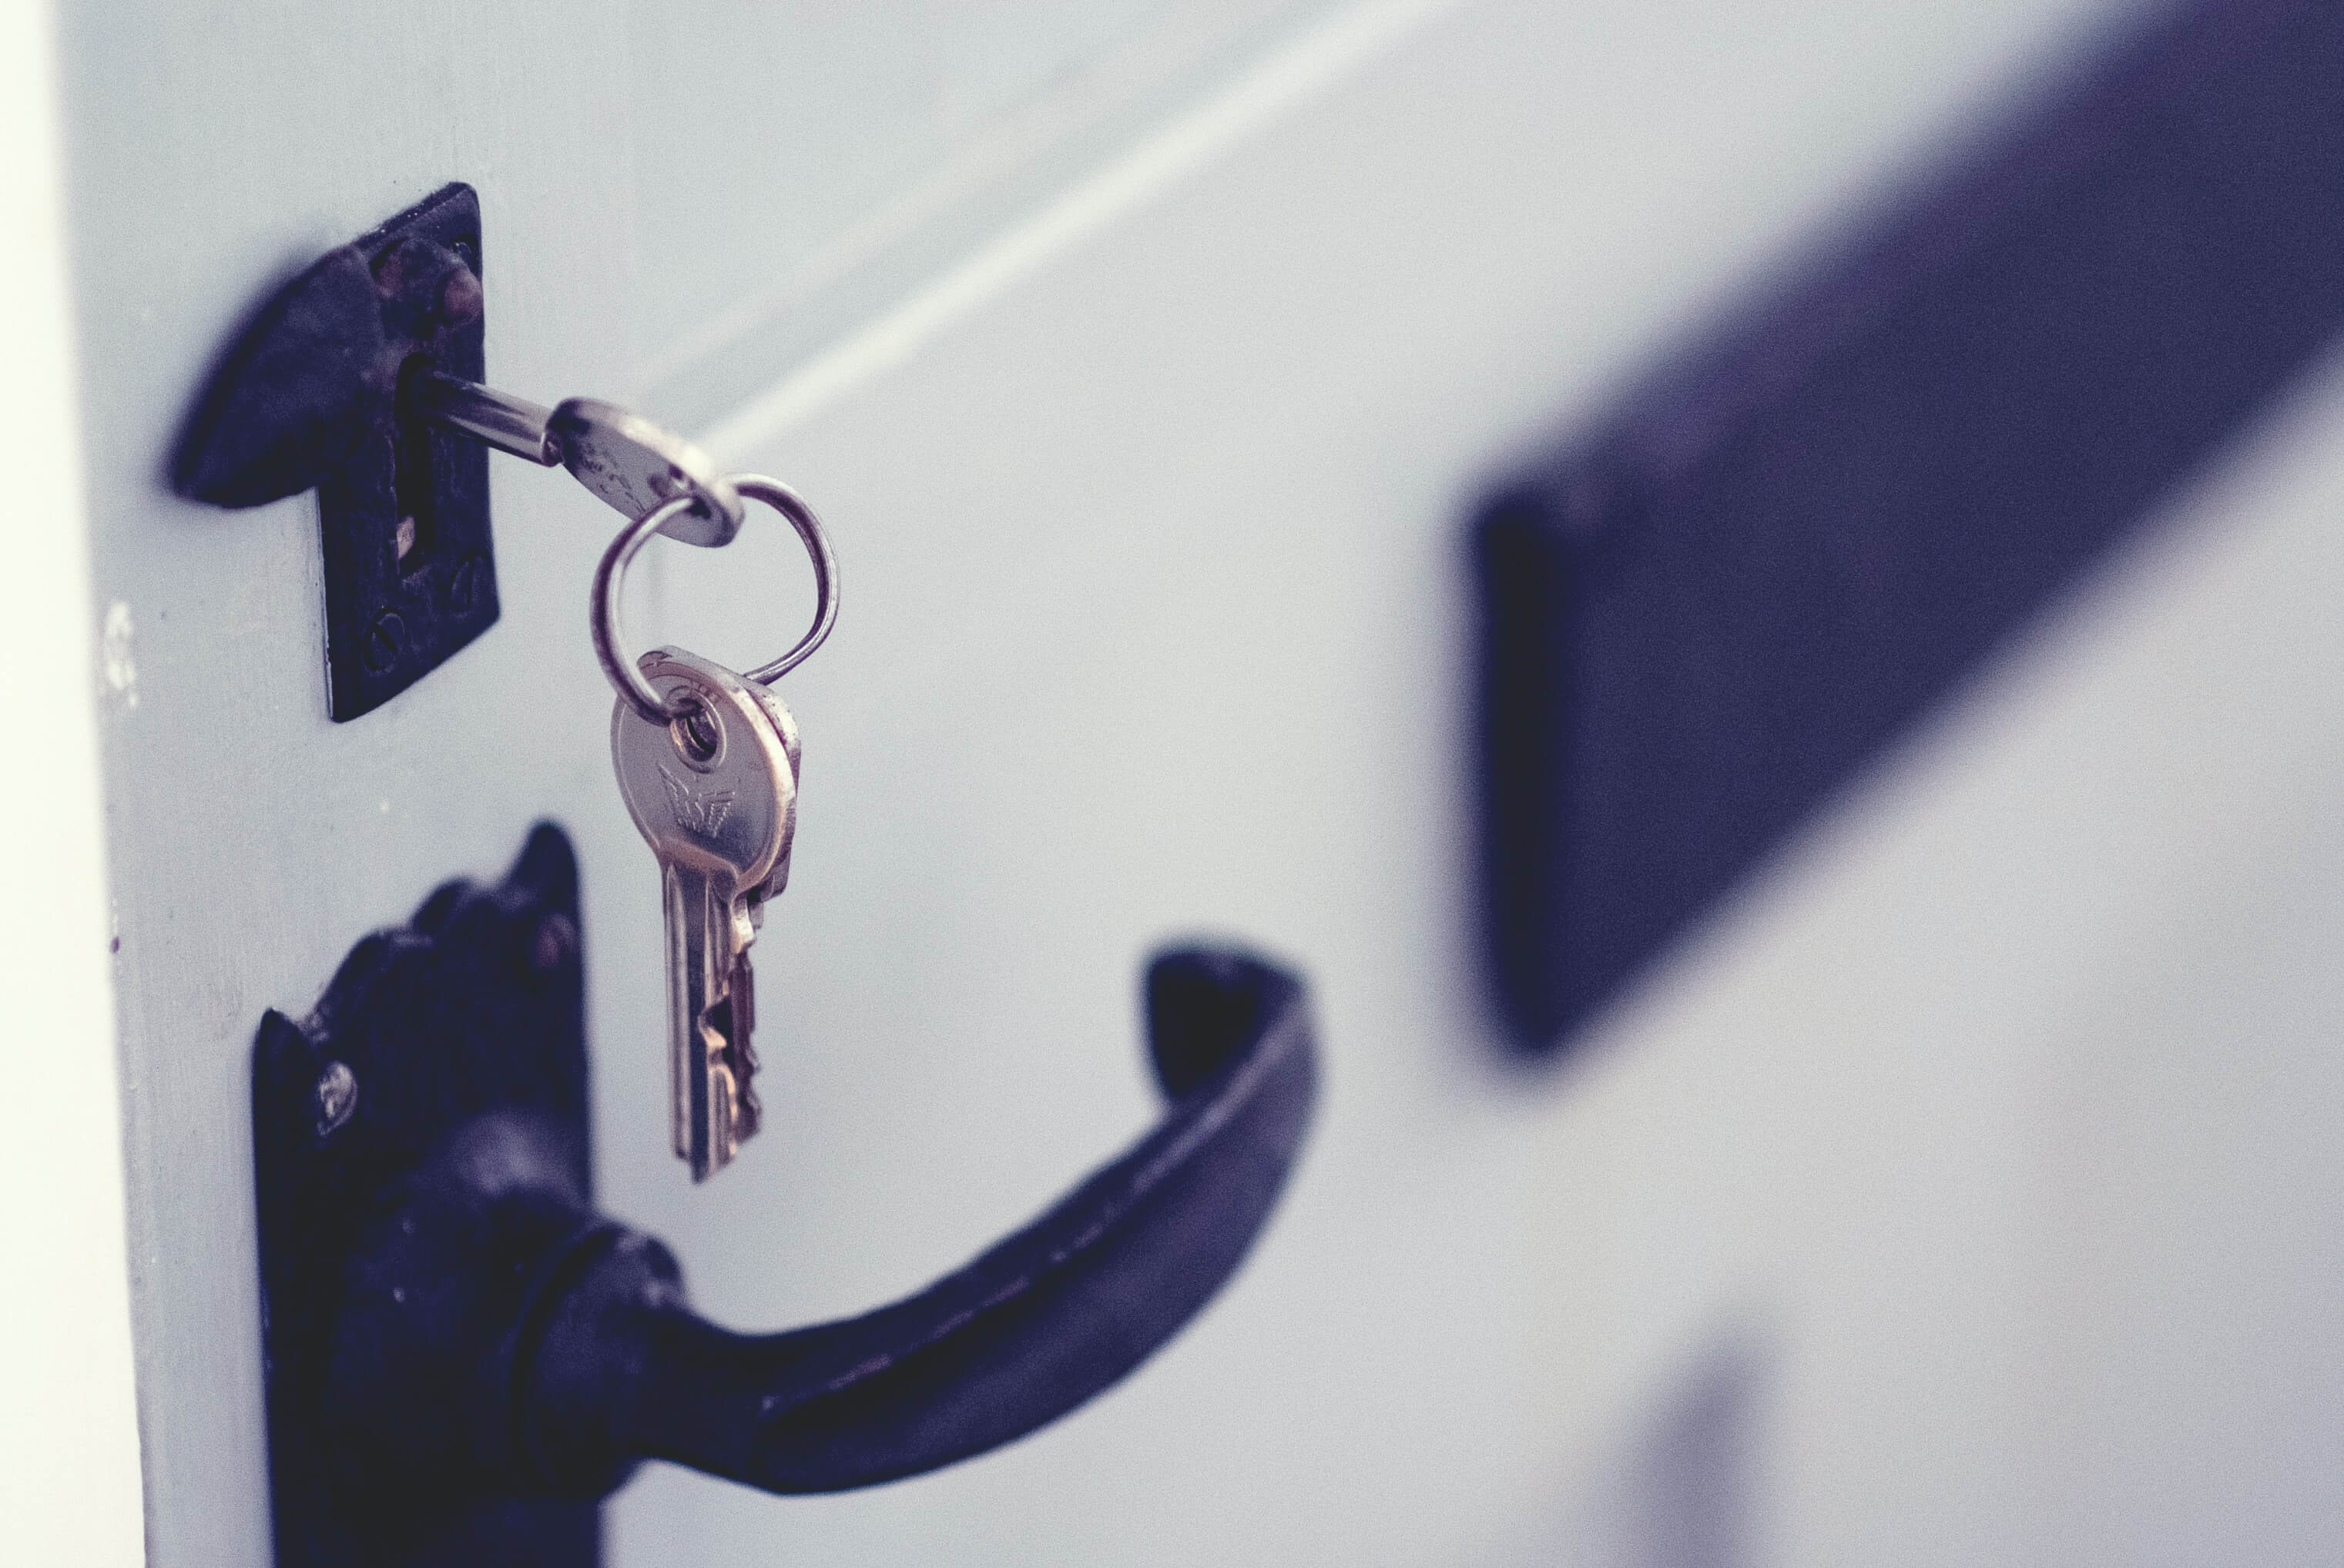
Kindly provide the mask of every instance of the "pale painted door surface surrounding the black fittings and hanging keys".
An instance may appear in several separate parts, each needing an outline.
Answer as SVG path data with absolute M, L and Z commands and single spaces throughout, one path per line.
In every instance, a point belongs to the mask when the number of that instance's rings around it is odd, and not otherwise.
M 586 867 L 605 1202 L 743 1327 L 919 1284 L 1144 1125 L 1167 935 L 1289 954 L 1329 1043 L 1263 1249 L 1132 1383 L 877 1493 L 647 1472 L 621 1568 L 2335 1561 L 2335 377 L 1563 1071 L 1493 1069 L 1467 952 L 1474 485 L 2100 7 L 1467 0 L 743 427 L 846 614 L 785 682 L 771 1125 L 696 1193 L 584 638 L 607 513 L 499 466 L 504 621 L 331 727 L 314 509 L 155 483 L 265 277 L 443 178 L 483 192 L 495 380 L 640 377 L 659 190 L 579 148 L 656 113 L 645 23 L 363 12 L 361 56 L 359 7 L 305 14 L 66 19 L 157 1563 L 265 1554 L 260 1008 L 541 813 Z M 804 614 L 776 534 L 659 551 L 642 626 L 762 656 Z

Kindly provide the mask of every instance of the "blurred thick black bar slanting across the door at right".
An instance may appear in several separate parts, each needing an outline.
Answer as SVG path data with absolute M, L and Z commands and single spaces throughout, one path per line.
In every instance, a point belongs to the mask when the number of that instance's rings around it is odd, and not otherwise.
M 1491 968 L 1542 1050 L 2344 326 L 2344 7 L 2159 12 L 1477 520 Z

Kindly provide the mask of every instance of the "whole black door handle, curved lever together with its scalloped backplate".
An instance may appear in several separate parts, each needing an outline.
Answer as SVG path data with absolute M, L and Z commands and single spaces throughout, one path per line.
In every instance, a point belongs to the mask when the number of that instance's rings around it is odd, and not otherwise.
M 1165 1120 L 1017 1235 L 856 1320 L 738 1336 L 593 1212 L 577 863 L 539 827 L 253 1045 L 279 1568 L 588 1568 L 668 1458 L 841 1491 L 1006 1444 L 1146 1359 L 1285 1186 L 1317 1066 L 1294 977 L 1149 966 Z

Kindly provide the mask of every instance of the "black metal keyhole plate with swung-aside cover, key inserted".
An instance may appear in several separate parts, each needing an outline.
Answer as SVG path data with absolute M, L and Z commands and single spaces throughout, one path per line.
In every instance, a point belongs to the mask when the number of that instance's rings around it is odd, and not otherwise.
M 180 434 L 171 483 L 190 499 L 319 492 L 335 720 L 497 623 L 488 450 L 398 413 L 417 368 L 483 377 L 483 316 L 481 202 L 445 185 L 279 288 Z

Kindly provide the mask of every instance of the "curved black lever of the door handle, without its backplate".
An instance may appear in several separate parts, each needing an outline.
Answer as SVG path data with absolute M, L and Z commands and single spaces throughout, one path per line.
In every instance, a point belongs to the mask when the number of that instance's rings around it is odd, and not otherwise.
M 684 1305 L 659 1242 L 609 1230 L 527 1369 L 548 1479 L 654 1455 L 776 1493 L 870 1486 L 1041 1427 L 1146 1359 L 1252 1247 L 1313 1097 L 1301 989 L 1259 961 L 1149 968 L 1163 1123 L 917 1296 L 741 1336 Z

